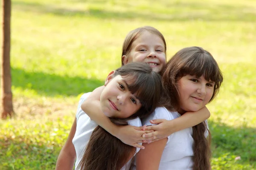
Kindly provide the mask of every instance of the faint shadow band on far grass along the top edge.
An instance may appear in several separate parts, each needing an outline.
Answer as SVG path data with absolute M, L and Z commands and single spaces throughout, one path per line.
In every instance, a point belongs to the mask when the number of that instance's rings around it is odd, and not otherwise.
M 78 3 L 78 1 L 74 2 Z M 84 1 L 80 1 L 84 3 Z M 91 1 L 90 4 L 100 4 L 105 6 L 108 1 L 98 0 Z M 155 10 L 152 6 L 142 6 L 136 11 L 110 11 L 107 8 L 89 8 L 85 10 L 61 8 L 58 5 L 46 5 L 41 3 L 29 3 L 23 1 L 14 1 L 13 7 L 15 10 L 30 11 L 42 14 L 54 14 L 58 16 L 79 16 L 79 17 L 96 17 L 101 19 L 119 19 L 119 20 L 167 20 L 167 21 L 188 21 L 188 20 L 205 20 L 205 21 L 243 21 L 251 22 L 256 20 L 255 9 L 250 6 L 235 6 L 235 5 L 219 5 L 214 3 L 189 3 L 189 2 L 176 2 L 176 1 L 162 1 L 159 2 L 162 6 L 159 11 Z M 120 1 L 113 3 L 113 5 L 120 6 L 126 9 L 133 9 L 134 6 L 129 3 Z M 157 9 L 157 8 L 156 8 Z M 145 13 L 146 11 L 146 13 Z

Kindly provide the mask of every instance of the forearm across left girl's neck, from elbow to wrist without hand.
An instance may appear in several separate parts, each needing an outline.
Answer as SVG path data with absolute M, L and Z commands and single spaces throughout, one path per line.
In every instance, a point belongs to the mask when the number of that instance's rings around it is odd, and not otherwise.
M 111 135 L 116 136 L 118 126 L 113 124 L 110 119 L 105 116 L 98 100 L 85 100 L 81 105 L 81 109 L 90 117 L 90 119 L 96 122 L 96 124 L 107 130 Z

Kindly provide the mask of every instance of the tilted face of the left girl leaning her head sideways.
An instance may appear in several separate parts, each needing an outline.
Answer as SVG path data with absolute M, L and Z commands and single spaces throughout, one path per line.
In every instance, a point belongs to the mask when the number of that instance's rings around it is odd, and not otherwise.
M 108 117 L 128 118 L 141 108 L 140 100 L 131 94 L 128 85 L 120 75 L 113 77 L 109 74 L 106 87 L 100 96 L 100 105 L 103 113 Z

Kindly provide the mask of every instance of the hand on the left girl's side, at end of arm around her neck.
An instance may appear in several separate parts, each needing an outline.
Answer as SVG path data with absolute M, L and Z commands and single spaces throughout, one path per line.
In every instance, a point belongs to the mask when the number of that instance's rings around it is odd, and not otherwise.
M 120 139 L 123 143 L 128 144 L 133 147 L 138 147 L 140 149 L 145 149 L 144 146 L 138 144 L 146 142 L 142 137 L 145 133 L 152 133 L 154 130 L 142 130 L 145 126 L 120 126 L 116 137 Z

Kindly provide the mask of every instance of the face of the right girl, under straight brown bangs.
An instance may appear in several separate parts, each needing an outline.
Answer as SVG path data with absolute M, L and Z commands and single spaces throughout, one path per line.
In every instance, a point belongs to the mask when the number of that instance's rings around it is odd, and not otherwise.
M 198 111 L 203 108 L 212 98 L 215 82 L 207 81 L 204 76 L 196 77 L 186 75 L 178 82 L 180 94 L 180 110 L 183 114 L 186 111 Z

